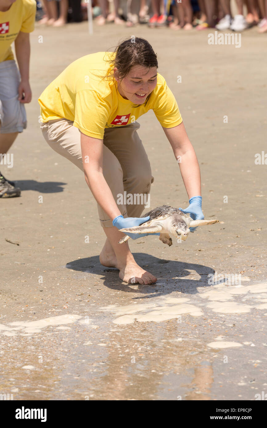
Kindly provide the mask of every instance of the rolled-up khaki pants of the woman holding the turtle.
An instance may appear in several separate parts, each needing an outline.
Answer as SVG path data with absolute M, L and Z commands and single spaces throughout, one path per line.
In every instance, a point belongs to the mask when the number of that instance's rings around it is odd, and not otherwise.
M 150 193 L 154 181 L 150 162 L 138 137 L 138 122 L 119 128 L 105 128 L 103 138 L 103 175 L 117 203 L 118 195 Z M 67 119 L 41 123 L 42 134 L 49 146 L 84 171 L 81 159 L 81 133 Z M 141 199 L 135 201 L 142 202 Z M 120 201 L 119 201 L 120 202 Z M 124 202 L 124 201 L 123 201 Z M 144 201 L 145 204 L 145 201 Z M 140 217 L 144 204 L 117 204 L 123 217 Z M 112 220 L 97 204 L 102 227 L 112 227 Z

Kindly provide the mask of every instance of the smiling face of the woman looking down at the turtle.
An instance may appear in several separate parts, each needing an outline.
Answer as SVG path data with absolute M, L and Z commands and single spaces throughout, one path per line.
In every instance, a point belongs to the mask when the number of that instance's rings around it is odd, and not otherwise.
M 118 73 L 117 67 L 114 72 Z M 143 104 L 147 96 L 155 89 L 157 84 L 157 68 L 145 67 L 144 65 L 134 65 L 123 79 L 117 80 L 120 95 L 132 101 L 134 104 Z

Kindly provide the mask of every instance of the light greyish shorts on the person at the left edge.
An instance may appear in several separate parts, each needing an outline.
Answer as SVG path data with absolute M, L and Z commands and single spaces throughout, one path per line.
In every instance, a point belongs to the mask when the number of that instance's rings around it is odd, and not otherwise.
M 24 104 L 18 101 L 20 74 L 14 59 L 0 62 L 0 132 L 22 132 L 27 126 Z

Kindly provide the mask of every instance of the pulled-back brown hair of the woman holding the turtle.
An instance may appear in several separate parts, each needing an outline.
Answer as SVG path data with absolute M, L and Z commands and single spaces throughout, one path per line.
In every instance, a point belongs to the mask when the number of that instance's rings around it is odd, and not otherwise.
M 143 65 L 148 68 L 158 68 L 156 53 L 154 52 L 150 43 L 141 37 L 132 36 L 131 39 L 126 39 L 123 42 L 119 42 L 115 47 L 114 53 L 116 53 L 116 55 L 113 59 L 105 59 L 105 61 L 109 62 L 111 65 L 102 80 L 115 80 L 113 72 L 114 67 L 117 67 L 118 77 L 120 77 L 120 79 L 126 77 L 134 65 Z M 151 93 L 147 96 L 144 105 L 147 104 L 150 95 Z M 140 104 L 134 104 L 134 107 L 139 107 L 139 105 Z

